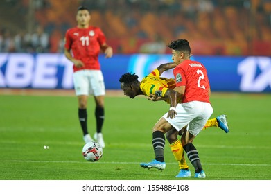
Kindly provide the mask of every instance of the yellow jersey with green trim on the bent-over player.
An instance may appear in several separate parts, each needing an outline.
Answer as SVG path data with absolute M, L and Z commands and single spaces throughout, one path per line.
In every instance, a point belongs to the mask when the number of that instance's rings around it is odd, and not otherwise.
M 152 71 L 140 82 L 140 89 L 146 96 L 153 94 L 155 96 L 164 97 L 168 88 L 175 88 L 175 80 L 172 78 L 161 78 L 158 69 Z

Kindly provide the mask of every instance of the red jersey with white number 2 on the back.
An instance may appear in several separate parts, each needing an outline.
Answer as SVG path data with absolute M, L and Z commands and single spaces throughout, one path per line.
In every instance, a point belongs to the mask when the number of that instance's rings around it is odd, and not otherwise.
M 182 103 L 191 101 L 209 101 L 210 88 L 207 70 L 200 62 L 184 60 L 173 70 L 176 87 L 185 86 Z

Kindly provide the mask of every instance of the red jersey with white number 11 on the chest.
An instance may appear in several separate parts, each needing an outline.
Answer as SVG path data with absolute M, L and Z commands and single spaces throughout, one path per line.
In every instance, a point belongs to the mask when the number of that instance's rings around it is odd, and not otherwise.
M 65 48 L 72 51 L 73 58 L 81 60 L 85 67 L 77 68 L 73 65 L 73 71 L 82 69 L 100 69 L 98 55 L 100 46 L 105 44 L 106 38 L 100 28 L 70 28 L 65 35 Z

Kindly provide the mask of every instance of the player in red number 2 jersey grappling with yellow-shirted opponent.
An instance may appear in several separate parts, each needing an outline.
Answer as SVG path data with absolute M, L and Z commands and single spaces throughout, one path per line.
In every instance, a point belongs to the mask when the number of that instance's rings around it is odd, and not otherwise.
M 164 133 L 174 127 L 177 131 L 187 125 L 182 134 L 182 145 L 187 157 L 195 168 L 195 178 L 205 178 L 198 150 L 193 145 L 193 139 L 197 136 L 205 123 L 213 113 L 213 107 L 209 101 L 211 89 L 207 70 L 200 62 L 190 60 L 191 48 L 186 39 L 177 39 L 168 45 L 172 49 L 172 59 L 177 65 L 173 70 L 176 87 L 174 91 L 178 97 L 171 102 L 169 111 L 162 116 L 153 127 L 152 145 L 155 151 L 155 159 L 149 163 L 141 163 L 143 168 L 158 168 L 164 170 Z M 158 95 L 157 95 L 158 96 Z M 175 105 L 176 106 L 172 106 Z M 176 177 L 189 177 L 190 172 L 180 170 Z

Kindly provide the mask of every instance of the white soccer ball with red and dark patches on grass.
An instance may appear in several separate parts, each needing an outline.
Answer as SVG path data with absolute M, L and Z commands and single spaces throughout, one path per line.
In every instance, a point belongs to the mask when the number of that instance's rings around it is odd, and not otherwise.
M 100 144 L 91 141 L 82 148 L 82 155 L 87 161 L 98 161 L 103 156 L 103 148 Z

